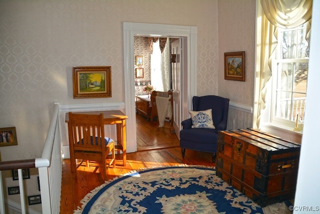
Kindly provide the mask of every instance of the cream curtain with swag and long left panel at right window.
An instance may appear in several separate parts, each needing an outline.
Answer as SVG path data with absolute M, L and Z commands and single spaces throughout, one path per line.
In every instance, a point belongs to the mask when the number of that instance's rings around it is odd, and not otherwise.
M 311 26 L 312 0 L 257 1 L 256 71 L 253 126 L 259 127 L 265 107 L 266 83 L 271 76 L 271 54 L 277 44 L 277 27 L 291 28 L 307 23 L 307 40 Z

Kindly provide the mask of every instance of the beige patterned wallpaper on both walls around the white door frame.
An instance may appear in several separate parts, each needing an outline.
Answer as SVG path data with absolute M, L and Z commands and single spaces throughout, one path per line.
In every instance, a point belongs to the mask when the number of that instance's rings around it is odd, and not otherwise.
M 123 21 L 197 26 L 198 95 L 219 93 L 252 103 L 247 95 L 253 88 L 254 2 L 0 0 L 0 125 L 15 126 L 18 140 L 1 147 L 2 160 L 40 156 L 53 101 L 124 101 Z M 225 20 L 218 18 L 226 11 Z M 241 49 L 248 52 L 247 81 L 226 82 L 221 52 Z M 72 66 L 80 65 L 111 66 L 111 98 L 73 99 Z

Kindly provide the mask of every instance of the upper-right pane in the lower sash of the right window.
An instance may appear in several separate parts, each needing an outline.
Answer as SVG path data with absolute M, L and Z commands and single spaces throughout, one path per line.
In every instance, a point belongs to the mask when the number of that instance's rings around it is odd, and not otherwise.
M 293 91 L 306 93 L 306 80 L 308 74 L 308 63 L 296 63 L 294 74 Z M 305 96 L 305 94 L 302 94 Z

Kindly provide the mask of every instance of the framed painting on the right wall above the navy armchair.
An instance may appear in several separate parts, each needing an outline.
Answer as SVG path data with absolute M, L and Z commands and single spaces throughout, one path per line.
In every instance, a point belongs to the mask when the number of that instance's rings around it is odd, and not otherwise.
M 224 53 L 224 79 L 245 81 L 244 51 Z

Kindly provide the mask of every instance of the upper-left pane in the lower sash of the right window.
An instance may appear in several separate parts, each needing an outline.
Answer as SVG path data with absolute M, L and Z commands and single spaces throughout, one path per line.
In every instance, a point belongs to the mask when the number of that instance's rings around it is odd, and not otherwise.
M 278 88 L 280 90 L 292 90 L 292 74 L 293 63 L 279 63 L 279 69 L 281 69 L 281 76 L 279 76 Z

